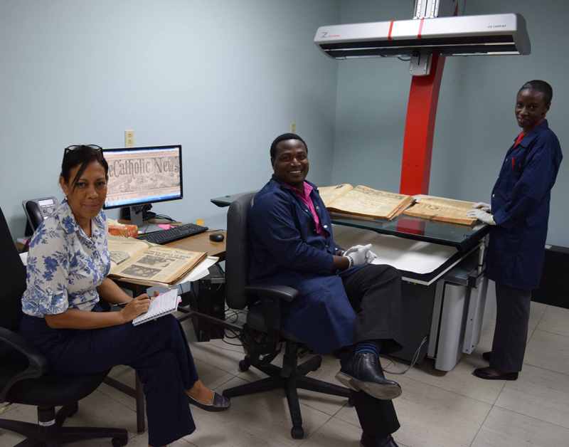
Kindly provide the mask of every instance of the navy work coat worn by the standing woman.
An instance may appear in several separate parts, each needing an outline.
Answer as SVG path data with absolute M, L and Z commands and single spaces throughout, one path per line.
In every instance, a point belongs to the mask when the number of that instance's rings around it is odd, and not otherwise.
M 496 226 L 490 229 L 487 278 L 512 288 L 539 287 L 551 188 L 562 159 L 546 120 L 506 153 L 492 190 Z

